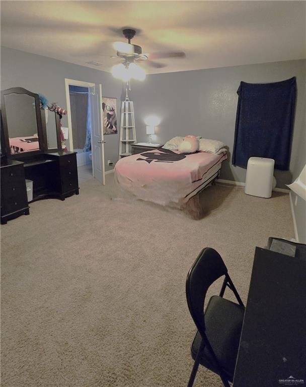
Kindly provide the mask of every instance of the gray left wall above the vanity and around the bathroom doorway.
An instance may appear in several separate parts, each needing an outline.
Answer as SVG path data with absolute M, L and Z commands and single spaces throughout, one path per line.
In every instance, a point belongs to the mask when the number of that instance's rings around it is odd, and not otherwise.
M 1 89 L 24 87 L 33 93 L 45 95 L 48 101 L 56 101 L 66 108 L 65 78 L 78 81 L 102 84 L 105 97 L 117 98 L 117 111 L 120 111 L 122 92 L 121 82 L 115 80 L 109 73 L 88 67 L 78 66 L 46 56 L 34 55 L 28 52 L 1 47 Z M 49 113 L 51 114 L 51 113 Z M 120 114 L 118 114 L 120 118 Z M 120 122 L 118 122 L 118 125 Z M 68 126 L 67 117 L 63 116 L 62 125 Z M 119 135 L 105 136 L 105 169 L 107 160 L 116 162 L 119 150 Z

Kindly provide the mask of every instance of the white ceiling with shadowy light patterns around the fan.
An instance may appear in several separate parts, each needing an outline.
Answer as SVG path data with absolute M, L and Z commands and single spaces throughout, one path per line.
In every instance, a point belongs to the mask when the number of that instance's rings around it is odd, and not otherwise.
M 301 59 L 305 10 L 303 1 L 1 1 L 1 44 L 110 71 L 111 42 L 132 27 L 143 52 L 186 53 L 160 59 L 163 69 L 145 64 L 147 73 Z

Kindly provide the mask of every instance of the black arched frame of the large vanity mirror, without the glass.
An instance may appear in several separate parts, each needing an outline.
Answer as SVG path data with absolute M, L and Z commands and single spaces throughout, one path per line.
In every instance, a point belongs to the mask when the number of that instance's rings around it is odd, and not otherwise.
M 20 153 L 13 153 L 11 154 L 11 147 L 10 147 L 10 141 L 9 141 L 9 127 L 8 127 L 8 120 L 7 120 L 7 114 L 6 114 L 6 107 L 5 107 L 5 95 L 8 94 L 27 94 L 34 98 L 35 100 L 35 112 L 36 112 L 36 123 L 37 123 L 37 134 L 38 134 L 38 143 L 39 143 L 39 150 L 37 151 L 29 151 L 29 152 L 20 152 Z M 41 109 L 40 109 L 40 100 L 39 96 L 36 93 L 32 93 L 29 90 L 26 90 L 22 87 L 12 87 L 7 90 L 1 91 L 1 117 L 2 117 L 2 144 L 1 149 L 2 152 L 8 157 L 8 158 L 14 158 L 14 159 L 23 159 L 25 157 L 29 156 L 35 156 L 37 154 L 41 154 L 47 151 L 47 138 L 46 138 L 46 123 L 44 120 L 42 120 L 41 117 Z M 57 135 L 57 134 L 56 134 Z M 57 136 L 58 137 L 58 136 Z

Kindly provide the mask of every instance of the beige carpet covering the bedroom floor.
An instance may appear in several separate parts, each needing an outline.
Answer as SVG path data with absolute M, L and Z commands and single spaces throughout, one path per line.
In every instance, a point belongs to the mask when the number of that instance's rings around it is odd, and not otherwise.
M 219 251 L 245 301 L 255 246 L 294 236 L 282 193 L 209 187 L 195 221 L 117 200 L 112 178 L 1 226 L 2 387 L 186 386 L 185 279 L 199 251 Z M 195 387 L 221 385 L 200 367 Z

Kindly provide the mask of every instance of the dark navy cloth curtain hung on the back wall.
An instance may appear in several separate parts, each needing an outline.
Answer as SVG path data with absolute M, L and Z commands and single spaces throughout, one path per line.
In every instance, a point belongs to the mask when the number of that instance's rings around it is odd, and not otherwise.
M 232 164 L 246 168 L 250 157 L 275 160 L 289 169 L 296 99 L 295 77 L 282 82 L 241 82 Z

